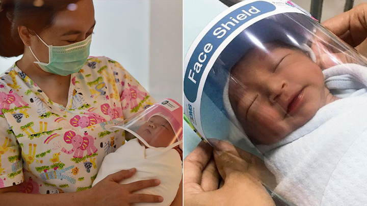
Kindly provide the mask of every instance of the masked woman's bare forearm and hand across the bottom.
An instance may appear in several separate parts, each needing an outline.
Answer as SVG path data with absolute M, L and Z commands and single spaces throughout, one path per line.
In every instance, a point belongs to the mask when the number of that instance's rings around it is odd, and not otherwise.
M 160 184 L 159 180 L 143 180 L 120 185 L 130 178 L 136 169 L 121 170 L 108 175 L 94 187 L 80 192 L 60 194 L 25 194 L 17 192 L 17 186 L 0 188 L 1 205 L 132 205 L 137 202 L 162 202 L 163 197 L 148 194 L 133 194 L 143 188 Z

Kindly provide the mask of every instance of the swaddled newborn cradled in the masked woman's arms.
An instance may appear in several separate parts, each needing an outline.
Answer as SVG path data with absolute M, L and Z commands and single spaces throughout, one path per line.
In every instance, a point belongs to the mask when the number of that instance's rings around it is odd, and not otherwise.
M 175 131 L 162 114 L 150 116 L 148 121 L 139 127 L 137 134 L 155 148 L 166 148 L 177 141 Z M 136 203 L 135 205 L 170 205 L 181 181 L 180 155 L 175 149 L 166 152 L 150 149 L 138 138 L 127 141 L 115 153 L 104 158 L 93 186 L 109 174 L 133 167 L 136 168 L 136 173 L 131 178 L 121 181 L 120 184 L 158 179 L 161 181 L 159 186 L 145 188 L 136 193 L 161 195 L 164 198 L 160 203 Z

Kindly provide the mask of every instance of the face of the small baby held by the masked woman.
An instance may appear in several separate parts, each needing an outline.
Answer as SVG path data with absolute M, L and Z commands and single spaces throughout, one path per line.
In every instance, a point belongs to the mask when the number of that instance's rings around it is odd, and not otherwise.
M 137 132 L 149 145 L 156 148 L 167 147 L 176 141 L 169 122 L 162 116 L 152 116 L 139 127 Z

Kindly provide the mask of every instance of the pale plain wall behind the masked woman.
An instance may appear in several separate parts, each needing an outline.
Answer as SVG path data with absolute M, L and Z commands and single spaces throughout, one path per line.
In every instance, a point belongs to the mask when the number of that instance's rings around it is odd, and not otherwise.
M 93 2 L 97 24 L 90 55 L 119 62 L 155 100 L 169 97 L 181 103 L 182 1 Z M 0 57 L 0 73 L 20 57 Z

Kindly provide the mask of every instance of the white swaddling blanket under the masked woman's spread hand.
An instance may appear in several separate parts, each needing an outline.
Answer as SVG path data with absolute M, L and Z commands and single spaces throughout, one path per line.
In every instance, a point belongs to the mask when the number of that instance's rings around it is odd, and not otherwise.
M 158 179 L 161 184 L 149 187 L 135 193 L 161 195 L 164 200 L 159 203 L 135 203 L 134 205 L 170 205 L 176 196 L 182 176 L 182 161 L 174 149 L 167 152 L 158 152 L 145 149 L 138 139 L 127 141 L 114 153 L 104 157 L 93 186 L 107 175 L 122 169 L 135 167 L 135 174 L 120 184 L 128 184 L 140 180 Z

